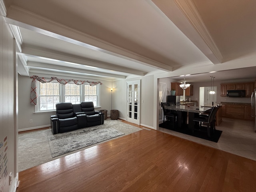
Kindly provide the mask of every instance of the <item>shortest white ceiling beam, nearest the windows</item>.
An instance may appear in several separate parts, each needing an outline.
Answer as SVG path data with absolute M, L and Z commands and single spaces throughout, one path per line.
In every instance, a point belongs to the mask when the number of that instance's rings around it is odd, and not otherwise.
M 27 62 L 27 66 L 30 69 L 48 69 L 48 70 L 59 70 L 59 71 L 65 71 L 66 73 L 70 74 L 86 74 L 89 76 L 104 76 L 104 77 L 113 77 L 113 78 L 121 78 L 125 79 L 126 76 L 124 75 L 117 75 L 117 74 L 110 74 L 110 73 L 103 73 L 103 72 L 96 72 L 91 70 L 83 70 L 83 69 L 76 69 L 72 67 L 64 67 L 64 66 L 56 66 L 52 64 L 46 64 L 46 63 L 38 63 L 38 62 Z

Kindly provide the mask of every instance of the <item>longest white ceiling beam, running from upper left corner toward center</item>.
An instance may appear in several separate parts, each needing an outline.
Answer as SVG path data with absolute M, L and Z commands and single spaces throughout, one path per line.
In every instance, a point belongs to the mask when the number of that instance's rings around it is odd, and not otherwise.
M 159 70 L 168 72 L 173 70 L 168 64 L 163 64 L 140 54 L 136 54 L 135 52 L 126 50 L 17 6 L 10 6 L 10 8 L 8 8 L 8 18 L 6 18 L 6 22 Z

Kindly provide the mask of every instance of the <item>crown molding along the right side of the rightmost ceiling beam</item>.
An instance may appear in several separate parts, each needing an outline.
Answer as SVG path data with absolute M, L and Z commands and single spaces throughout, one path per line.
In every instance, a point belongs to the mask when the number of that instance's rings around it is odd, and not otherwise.
M 174 0 L 176 5 L 182 10 L 183 14 L 189 20 L 190 24 L 194 27 L 196 32 L 200 35 L 200 37 L 204 40 L 216 58 L 222 62 L 223 56 L 216 46 L 214 40 L 212 39 L 208 29 L 206 28 L 204 21 L 202 20 L 196 6 L 194 5 L 192 0 L 180 1 Z

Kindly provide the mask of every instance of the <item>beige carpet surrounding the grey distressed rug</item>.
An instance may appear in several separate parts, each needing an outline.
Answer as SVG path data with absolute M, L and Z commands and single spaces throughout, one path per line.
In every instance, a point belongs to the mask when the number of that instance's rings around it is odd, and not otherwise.
M 124 135 L 141 130 L 136 126 L 132 126 L 130 124 L 126 124 L 118 120 L 110 120 L 109 118 L 104 121 L 104 124 L 108 127 L 115 128 L 116 130 L 124 133 Z M 109 141 L 109 140 L 106 140 L 94 145 L 87 146 L 85 148 L 80 148 L 73 152 L 69 152 L 69 153 L 52 158 L 52 154 L 50 152 L 50 146 L 48 142 L 49 135 L 52 135 L 52 132 L 50 129 L 22 133 L 18 135 L 18 170 L 19 172 L 22 170 L 26 170 L 28 168 L 52 161 L 54 159 L 78 152 L 80 150 L 84 150 L 86 148 L 95 146 L 97 144 Z M 119 137 L 122 137 L 122 136 L 119 136 Z M 112 138 L 112 139 L 115 139 L 115 138 Z

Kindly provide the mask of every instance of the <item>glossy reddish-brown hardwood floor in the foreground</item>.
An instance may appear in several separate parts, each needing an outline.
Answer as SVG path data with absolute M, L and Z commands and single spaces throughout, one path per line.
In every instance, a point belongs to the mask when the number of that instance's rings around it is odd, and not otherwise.
M 19 173 L 17 192 L 252 192 L 256 161 L 156 130 Z

